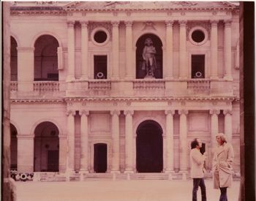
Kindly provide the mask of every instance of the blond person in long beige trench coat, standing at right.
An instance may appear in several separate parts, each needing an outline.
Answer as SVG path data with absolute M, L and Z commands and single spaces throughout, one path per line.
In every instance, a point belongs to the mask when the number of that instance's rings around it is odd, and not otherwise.
M 214 152 L 213 181 L 214 189 L 220 189 L 219 201 L 227 201 L 227 187 L 232 183 L 233 146 L 227 143 L 225 134 L 216 135 L 218 147 Z

